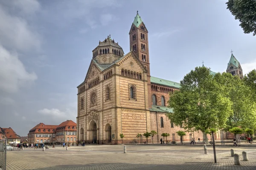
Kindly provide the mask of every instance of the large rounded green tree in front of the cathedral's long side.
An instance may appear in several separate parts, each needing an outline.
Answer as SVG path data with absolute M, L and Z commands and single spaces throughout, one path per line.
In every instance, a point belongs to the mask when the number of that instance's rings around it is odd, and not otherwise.
M 180 81 L 180 90 L 170 95 L 169 107 L 173 113 L 166 115 L 176 126 L 185 130 L 201 130 L 203 142 L 208 143 L 206 131 L 222 129 L 232 114 L 231 102 L 221 92 L 210 69 L 196 67 Z

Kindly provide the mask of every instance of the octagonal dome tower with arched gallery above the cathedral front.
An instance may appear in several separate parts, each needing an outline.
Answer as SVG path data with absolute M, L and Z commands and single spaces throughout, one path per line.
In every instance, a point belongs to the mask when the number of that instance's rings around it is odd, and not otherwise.
M 110 35 L 103 41 L 99 41 L 99 46 L 93 49 L 93 59 L 99 64 L 111 64 L 124 55 L 122 47 L 111 39 Z

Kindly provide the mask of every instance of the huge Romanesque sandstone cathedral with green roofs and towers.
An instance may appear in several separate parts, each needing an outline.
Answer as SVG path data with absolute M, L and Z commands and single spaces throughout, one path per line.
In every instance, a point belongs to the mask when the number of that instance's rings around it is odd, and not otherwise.
M 77 140 L 96 144 L 131 143 L 137 134 L 151 132 L 155 143 L 162 133 L 167 140 L 179 141 L 178 130 L 166 117 L 169 93 L 180 84 L 150 75 L 148 29 L 140 15 L 134 18 L 129 32 L 131 51 L 124 54 L 111 35 L 93 49 L 92 60 L 84 81 L 77 87 Z M 242 69 L 231 56 L 227 72 L 240 75 Z M 241 74 L 240 74 L 241 73 Z M 120 134 L 124 137 L 120 138 Z M 187 133 L 183 140 L 202 138 L 201 132 Z M 219 132 L 215 135 L 220 138 Z M 148 138 L 151 141 L 152 138 Z M 143 136 L 143 141 L 146 138 Z

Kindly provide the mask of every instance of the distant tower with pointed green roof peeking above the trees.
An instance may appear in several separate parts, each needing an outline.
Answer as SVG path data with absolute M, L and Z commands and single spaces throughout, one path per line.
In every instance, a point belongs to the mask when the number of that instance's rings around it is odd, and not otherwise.
M 230 61 L 227 64 L 226 72 L 230 72 L 232 75 L 238 75 L 240 79 L 243 78 L 243 69 L 239 63 L 239 61 L 233 55 L 233 51 L 231 50 Z

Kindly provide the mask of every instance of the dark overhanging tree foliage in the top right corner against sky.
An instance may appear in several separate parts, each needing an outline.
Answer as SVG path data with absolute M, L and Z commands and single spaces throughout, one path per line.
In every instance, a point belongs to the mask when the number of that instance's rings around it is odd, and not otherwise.
M 229 0 L 226 4 L 235 19 L 240 21 L 244 33 L 256 35 L 256 0 Z

